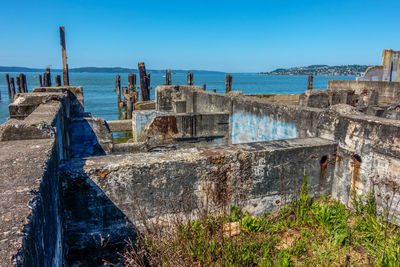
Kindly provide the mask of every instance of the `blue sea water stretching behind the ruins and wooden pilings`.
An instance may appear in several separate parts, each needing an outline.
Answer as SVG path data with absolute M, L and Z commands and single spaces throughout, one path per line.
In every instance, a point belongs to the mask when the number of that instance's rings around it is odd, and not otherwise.
M 5 74 L 0 72 L 0 124 L 9 117 L 7 84 Z M 19 73 L 10 72 L 10 77 L 16 77 Z M 38 75 L 42 73 L 28 72 L 26 74 L 29 92 L 39 86 Z M 54 85 L 55 75 L 52 72 Z M 117 73 L 70 73 L 70 84 L 83 86 L 85 111 L 106 120 L 118 119 L 117 93 L 114 91 L 115 76 Z M 186 74 L 172 74 L 172 84 L 186 84 Z M 341 76 L 314 76 L 314 88 L 326 89 L 328 80 L 354 80 L 355 77 Z M 219 93 L 225 92 L 225 74 L 197 74 L 194 73 L 194 84 L 203 86 L 207 91 L 216 89 Z M 139 81 L 138 81 L 139 83 Z M 154 91 L 157 85 L 165 83 L 163 74 L 151 74 L 150 91 L 151 99 L 154 99 Z M 121 86 L 128 86 L 128 74 L 121 74 Z M 248 73 L 232 74 L 232 90 L 243 91 L 244 94 L 299 94 L 307 88 L 307 76 L 290 75 L 256 75 Z

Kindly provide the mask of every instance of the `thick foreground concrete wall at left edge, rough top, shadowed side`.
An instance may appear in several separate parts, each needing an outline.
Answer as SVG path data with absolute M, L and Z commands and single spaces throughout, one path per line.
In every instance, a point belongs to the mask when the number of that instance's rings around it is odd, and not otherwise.
M 62 266 L 55 139 L 0 142 L 0 266 Z

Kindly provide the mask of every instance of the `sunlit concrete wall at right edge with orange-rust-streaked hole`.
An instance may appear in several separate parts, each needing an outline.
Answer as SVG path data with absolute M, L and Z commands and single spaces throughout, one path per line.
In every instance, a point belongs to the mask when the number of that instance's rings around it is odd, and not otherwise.
M 400 184 L 400 122 L 363 114 L 321 114 L 318 136 L 339 143 L 333 195 L 348 202 L 349 192 L 372 190 L 372 179 Z M 358 162 L 360 161 L 360 162 Z M 359 168 L 354 166 L 359 165 Z M 389 192 L 382 192 L 385 195 Z M 398 212 L 398 211 L 397 211 Z

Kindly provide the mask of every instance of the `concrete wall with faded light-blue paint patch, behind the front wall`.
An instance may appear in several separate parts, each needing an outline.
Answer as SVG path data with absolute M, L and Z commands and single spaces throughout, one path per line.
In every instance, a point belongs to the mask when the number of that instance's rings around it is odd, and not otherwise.
M 190 92 L 189 92 L 190 91 Z M 312 137 L 310 129 L 321 110 L 265 101 L 259 98 L 205 92 L 200 87 L 159 86 L 159 110 L 174 111 L 174 102 L 187 112 L 229 112 L 233 143 Z

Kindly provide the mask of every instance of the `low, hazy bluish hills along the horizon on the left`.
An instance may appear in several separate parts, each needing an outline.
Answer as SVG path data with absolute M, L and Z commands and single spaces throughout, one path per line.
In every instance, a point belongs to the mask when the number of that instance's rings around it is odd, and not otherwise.
M 61 69 L 51 69 L 52 71 L 62 71 Z M 8 67 L 0 66 L 0 72 L 44 72 L 45 69 L 37 68 L 25 68 L 25 67 Z M 149 73 L 165 73 L 165 70 L 147 70 Z M 220 71 L 209 71 L 209 70 L 172 70 L 173 73 L 187 73 L 191 71 L 193 73 L 224 73 Z M 69 72 L 91 72 L 91 73 L 138 73 L 137 69 L 128 69 L 120 67 L 80 67 L 70 68 Z

